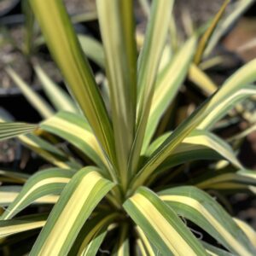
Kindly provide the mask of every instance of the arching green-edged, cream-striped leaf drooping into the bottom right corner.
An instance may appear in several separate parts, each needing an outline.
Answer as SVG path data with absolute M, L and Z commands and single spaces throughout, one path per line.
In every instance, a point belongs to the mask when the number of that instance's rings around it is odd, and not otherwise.
M 201 189 L 195 187 L 166 189 L 160 192 L 160 199 L 166 201 L 179 215 L 206 230 L 231 253 L 238 255 L 256 253 L 256 247 L 253 247 L 230 214 Z

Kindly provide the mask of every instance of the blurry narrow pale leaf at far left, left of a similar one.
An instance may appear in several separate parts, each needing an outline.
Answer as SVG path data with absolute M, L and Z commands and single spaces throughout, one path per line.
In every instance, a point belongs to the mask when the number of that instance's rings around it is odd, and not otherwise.
M 49 118 L 53 115 L 54 111 L 49 104 L 45 102 L 36 91 L 32 90 L 31 86 L 26 84 L 11 67 L 7 67 L 6 71 L 9 73 L 11 79 L 14 80 L 15 84 L 20 88 L 27 101 L 32 104 L 33 108 L 37 109 L 38 113 L 40 113 L 43 118 Z

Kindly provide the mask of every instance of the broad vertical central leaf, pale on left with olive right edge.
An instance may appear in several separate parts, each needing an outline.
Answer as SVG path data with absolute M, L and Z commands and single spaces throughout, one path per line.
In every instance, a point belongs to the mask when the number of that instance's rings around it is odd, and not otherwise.
M 121 172 L 119 177 L 126 186 L 137 106 L 137 49 L 133 1 L 97 0 L 96 3 L 106 57 L 113 134 Z

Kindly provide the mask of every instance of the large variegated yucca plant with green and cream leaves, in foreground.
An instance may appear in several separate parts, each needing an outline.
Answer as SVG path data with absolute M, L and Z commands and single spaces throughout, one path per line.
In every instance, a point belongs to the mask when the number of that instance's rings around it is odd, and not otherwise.
M 72 104 L 74 111 L 56 113 L 38 125 L 1 123 L 1 139 L 18 137 L 54 166 L 31 177 L 0 173 L 3 183 L 24 183 L 1 188 L 1 204 L 7 207 L 0 221 L 2 246 L 8 250 L 22 239 L 15 235 L 34 235 L 42 228 L 30 255 L 255 255 L 255 232 L 207 191 L 255 193 L 256 173 L 245 170 L 211 129 L 236 103 L 256 93 L 256 61 L 241 67 L 174 131 L 154 139 L 197 46 L 195 34 L 159 68 L 163 49 L 170 47 L 173 1 L 152 2 L 137 58 L 133 1 L 97 0 L 110 113 L 61 0 L 30 3 L 79 107 Z M 76 148 L 79 157 L 58 148 L 52 135 Z M 224 162 L 189 179 L 183 166 L 192 160 Z M 22 212 L 32 204 L 37 214 Z M 42 213 L 45 204 L 54 206 Z M 216 242 L 197 238 L 195 229 Z

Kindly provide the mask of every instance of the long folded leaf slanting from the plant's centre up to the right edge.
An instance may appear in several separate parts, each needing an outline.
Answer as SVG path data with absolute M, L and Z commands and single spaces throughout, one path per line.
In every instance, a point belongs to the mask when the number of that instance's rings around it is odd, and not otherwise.
M 191 131 L 195 130 L 196 127 L 201 128 L 201 123 L 204 122 L 205 119 L 209 117 L 211 117 L 211 119 L 212 117 L 214 117 L 214 119 L 219 116 L 222 117 L 224 110 L 229 110 L 237 98 L 242 99 L 255 93 L 255 89 L 252 89 L 252 87 L 250 87 L 249 92 L 247 91 L 248 89 L 241 89 L 245 87 L 245 84 L 251 84 L 255 79 L 256 60 L 253 60 L 241 67 L 230 79 L 227 79 L 223 86 L 212 97 L 208 98 L 188 119 L 185 119 L 181 125 L 177 126 L 176 130 L 154 151 L 154 154 L 151 155 L 142 169 L 137 173 L 137 176 L 133 178 L 132 189 L 135 190 L 142 185 Z M 241 93 L 241 90 L 244 91 Z M 238 91 L 239 94 L 237 93 Z M 234 98 L 233 95 L 237 97 Z M 227 101 L 227 99 L 229 99 L 229 101 Z M 222 102 L 225 102 L 225 105 L 223 105 Z M 224 109 L 219 109 L 220 105 L 222 105 Z M 218 109 L 218 111 L 216 111 L 216 109 Z M 216 116 L 215 113 L 218 113 L 218 115 Z

